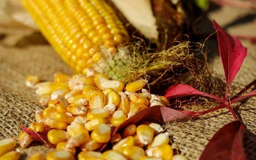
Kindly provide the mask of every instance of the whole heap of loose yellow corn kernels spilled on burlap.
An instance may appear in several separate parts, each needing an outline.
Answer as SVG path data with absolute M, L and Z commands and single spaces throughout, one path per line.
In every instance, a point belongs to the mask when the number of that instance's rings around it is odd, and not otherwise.
M 87 75 L 69 77 L 58 73 L 54 82 L 40 82 L 30 75 L 26 86 L 35 88 L 39 103 L 46 108 L 37 109 L 36 122 L 28 129 L 36 132 L 49 131 L 49 142 L 56 149 L 47 154 L 36 153 L 29 160 L 188 160 L 183 155 L 174 155 L 169 144 L 168 132 L 156 123 L 143 122 L 128 125 L 122 133 L 111 136 L 113 127 L 139 111 L 154 105 L 169 104 L 162 96 L 150 94 L 143 87 L 145 80 L 129 83 L 123 91 L 123 82 L 109 80 L 104 74 L 88 69 Z M 18 136 L 22 148 L 29 146 L 32 137 L 22 131 Z M 0 140 L 0 160 L 18 160 L 16 138 Z M 112 149 L 97 151 L 104 143 L 112 143 Z

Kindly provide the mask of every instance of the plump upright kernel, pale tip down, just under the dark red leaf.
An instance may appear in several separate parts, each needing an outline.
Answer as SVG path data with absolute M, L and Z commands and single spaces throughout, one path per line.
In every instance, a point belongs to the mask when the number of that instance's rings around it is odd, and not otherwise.
M 139 141 L 145 145 L 148 145 L 150 142 L 152 142 L 154 137 L 154 130 L 148 125 L 144 125 L 144 124 L 139 125 L 137 127 L 136 133 Z

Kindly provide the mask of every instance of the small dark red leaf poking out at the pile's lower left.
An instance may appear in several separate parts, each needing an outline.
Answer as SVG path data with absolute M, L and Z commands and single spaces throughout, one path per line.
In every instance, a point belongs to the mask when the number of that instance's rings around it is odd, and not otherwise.
M 27 134 L 29 134 L 32 139 L 40 141 L 42 143 L 44 143 L 46 146 L 48 147 L 55 147 L 54 144 L 52 144 L 51 142 L 49 142 L 48 138 L 47 138 L 47 132 L 35 132 L 33 130 L 29 130 L 26 127 L 20 125 L 21 129 L 26 132 Z

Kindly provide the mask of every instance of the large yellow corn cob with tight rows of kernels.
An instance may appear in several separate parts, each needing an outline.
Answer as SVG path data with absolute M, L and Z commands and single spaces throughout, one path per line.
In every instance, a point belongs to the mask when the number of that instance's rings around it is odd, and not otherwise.
M 106 63 L 100 46 L 114 54 L 117 46 L 129 39 L 125 27 L 103 0 L 21 2 L 56 52 L 77 73 Z M 62 78 L 58 75 L 56 81 Z

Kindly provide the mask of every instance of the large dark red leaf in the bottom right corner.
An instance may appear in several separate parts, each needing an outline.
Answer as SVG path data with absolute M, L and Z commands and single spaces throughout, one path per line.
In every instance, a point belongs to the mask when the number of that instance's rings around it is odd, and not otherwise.
M 208 142 L 199 160 L 246 160 L 243 148 L 245 131 L 238 120 L 226 124 Z

